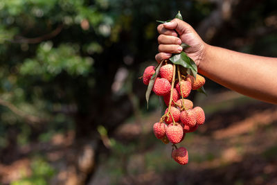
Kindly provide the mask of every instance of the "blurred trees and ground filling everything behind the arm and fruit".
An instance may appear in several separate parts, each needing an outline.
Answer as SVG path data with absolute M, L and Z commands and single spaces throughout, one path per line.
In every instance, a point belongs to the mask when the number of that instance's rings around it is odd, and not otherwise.
M 139 77 L 178 10 L 208 44 L 277 56 L 276 0 L 1 0 L 0 184 L 277 184 L 276 105 L 211 80 L 188 165 L 154 137 Z

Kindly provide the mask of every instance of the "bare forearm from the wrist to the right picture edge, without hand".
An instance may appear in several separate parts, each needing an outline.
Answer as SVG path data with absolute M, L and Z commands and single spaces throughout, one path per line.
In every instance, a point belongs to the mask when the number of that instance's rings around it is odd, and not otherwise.
M 277 58 L 207 45 L 199 73 L 241 94 L 277 104 Z

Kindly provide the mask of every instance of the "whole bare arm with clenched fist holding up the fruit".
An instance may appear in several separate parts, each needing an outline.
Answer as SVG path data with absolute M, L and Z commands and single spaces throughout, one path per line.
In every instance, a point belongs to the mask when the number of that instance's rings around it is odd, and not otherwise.
M 157 29 L 157 62 L 170 58 L 171 53 L 180 53 L 179 44 L 184 42 L 191 46 L 186 53 L 195 61 L 200 74 L 240 94 L 277 104 L 277 58 L 208 45 L 193 27 L 179 19 L 160 24 Z

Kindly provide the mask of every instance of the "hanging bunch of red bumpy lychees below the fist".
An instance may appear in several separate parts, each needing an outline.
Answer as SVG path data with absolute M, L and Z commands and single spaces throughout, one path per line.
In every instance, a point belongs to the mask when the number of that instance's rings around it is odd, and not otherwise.
M 194 132 L 205 121 L 204 110 L 193 107 L 193 102 L 186 99 L 191 90 L 201 88 L 205 78 L 196 74 L 194 77 L 181 70 L 181 66 L 169 60 L 163 61 L 159 71 L 154 66 L 147 67 L 143 73 L 143 83 L 148 85 L 154 80 L 152 91 L 163 96 L 167 109 L 159 122 L 154 123 L 153 131 L 163 143 L 172 143 L 172 158 L 177 163 L 188 164 L 188 151 L 176 144 L 184 140 L 186 133 Z

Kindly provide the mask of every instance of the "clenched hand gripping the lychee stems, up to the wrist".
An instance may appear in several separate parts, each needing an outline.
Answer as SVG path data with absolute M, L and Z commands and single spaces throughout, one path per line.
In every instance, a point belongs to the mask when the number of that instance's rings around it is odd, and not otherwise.
M 196 31 L 180 19 L 173 19 L 165 24 L 158 26 L 159 53 L 155 56 L 157 62 L 171 57 L 171 53 L 181 53 L 183 51 L 181 43 L 188 44 L 190 48 L 186 49 L 187 55 L 192 58 L 197 66 L 204 60 L 206 43 L 199 37 Z M 177 37 L 177 33 L 179 38 Z

